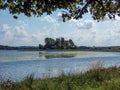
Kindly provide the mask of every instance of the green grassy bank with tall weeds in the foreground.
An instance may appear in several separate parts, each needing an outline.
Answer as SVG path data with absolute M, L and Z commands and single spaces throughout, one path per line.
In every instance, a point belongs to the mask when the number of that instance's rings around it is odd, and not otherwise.
M 102 67 L 96 61 L 91 69 L 79 74 L 64 74 L 58 77 L 34 79 L 33 75 L 21 82 L 1 82 L 0 90 L 120 90 L 120 67 Z

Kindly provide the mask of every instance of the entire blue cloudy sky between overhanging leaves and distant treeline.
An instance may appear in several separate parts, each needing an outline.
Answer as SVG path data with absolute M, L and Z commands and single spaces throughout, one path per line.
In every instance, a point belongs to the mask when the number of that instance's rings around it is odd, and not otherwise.
M 8 11 L 0 11 L 0 45 L 44 45 L 46 37 L 72 39 L 78 46 L 120 46 L 120 17 L 97 22 L 89 14 L 80 20 L 62 22 L 58 10 L 51 15 L 14 19 Z

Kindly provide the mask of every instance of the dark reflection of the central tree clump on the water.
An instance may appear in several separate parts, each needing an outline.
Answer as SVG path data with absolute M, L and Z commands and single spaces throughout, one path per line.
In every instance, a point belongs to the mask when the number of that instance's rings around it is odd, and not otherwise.
M 44 57 L 45 59 L 72 58 L 75 56 L 76 56 L 76 54 L 72 54 L 72 53 L 42 53 L 42 52 L 39 52 L 39 58 Z

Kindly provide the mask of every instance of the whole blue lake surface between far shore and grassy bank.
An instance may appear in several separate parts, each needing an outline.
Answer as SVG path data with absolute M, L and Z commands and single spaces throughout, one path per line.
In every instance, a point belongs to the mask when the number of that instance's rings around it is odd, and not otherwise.
M 0 77 L 19 81 L 27 75 L 36 78 L 57 76 L 61 72 L 78 73 L 91 67 L 96 60 L 104 66 L 120 65 L 120 52 L 47 52 L 0 51 Z

